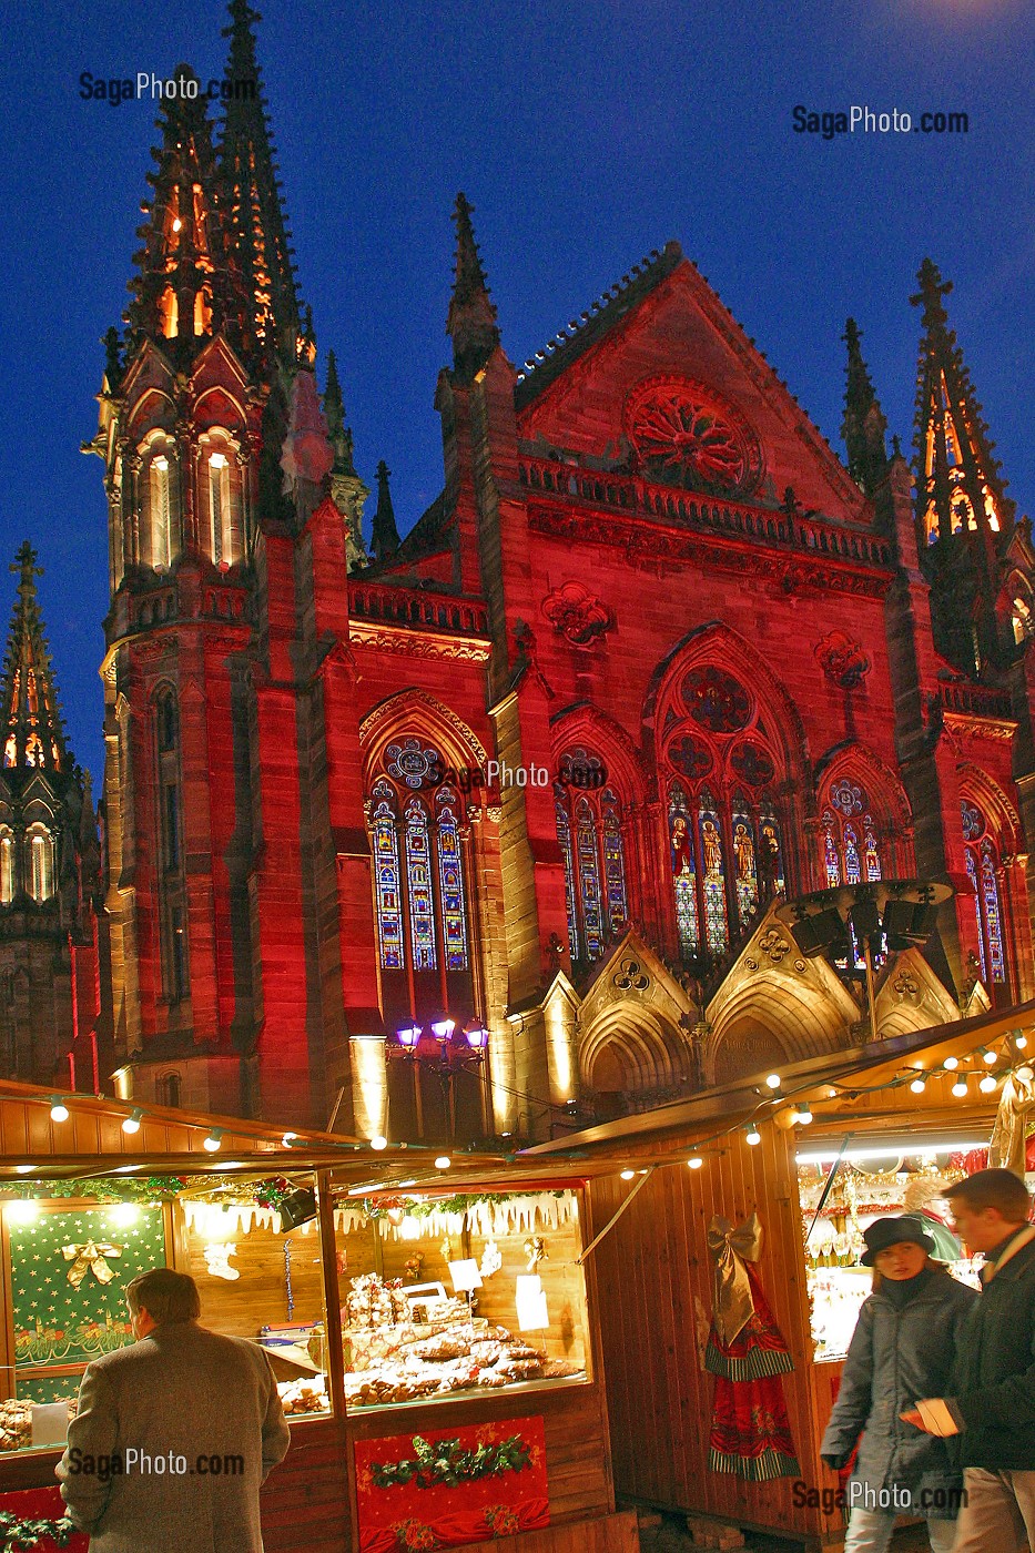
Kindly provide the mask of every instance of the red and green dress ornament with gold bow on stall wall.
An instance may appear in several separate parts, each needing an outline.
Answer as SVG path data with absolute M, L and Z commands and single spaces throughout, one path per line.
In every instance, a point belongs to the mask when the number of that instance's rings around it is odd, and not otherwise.
M 783 1382 L 794 1368 L 754 1267 L 761 1255 L 758 1214 L 737 1228 L 716 1214 L 709 1225 L 715 1303 L 704 1368 L 715 1376 L 709 1468 L 751 1483 L 799 1477 Z

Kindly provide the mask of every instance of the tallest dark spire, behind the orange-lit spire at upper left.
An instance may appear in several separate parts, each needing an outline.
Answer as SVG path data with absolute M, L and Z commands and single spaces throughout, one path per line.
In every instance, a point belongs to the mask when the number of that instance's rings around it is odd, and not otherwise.
M 230 0 L 230 56 L 219 163 L 225 179 L 253 329 L 267 360 L 294 360 L 301 326 L 291 233 L 281 207 L 274 143 L 255 53 L 249 0 Z

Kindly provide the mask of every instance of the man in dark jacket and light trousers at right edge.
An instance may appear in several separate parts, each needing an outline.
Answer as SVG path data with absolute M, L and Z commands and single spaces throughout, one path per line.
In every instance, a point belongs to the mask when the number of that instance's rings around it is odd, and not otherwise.
M 1035 1547 L 1035 1225 L 1024 1182 L 982 1169 L 946 1193 L 970 1252 L 984 1252 L 981 1298 L 960 1332 L 951 1396 L 903 1413 L 929 1435 L 959 1435 L 967 1499 L 954 1553 Z

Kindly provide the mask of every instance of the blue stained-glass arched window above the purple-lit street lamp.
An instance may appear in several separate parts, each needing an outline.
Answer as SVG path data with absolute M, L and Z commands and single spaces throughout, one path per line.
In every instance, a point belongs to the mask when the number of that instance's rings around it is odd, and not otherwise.
M 449 972 L 471 968 L 463 801 L 421 739 L 389 745 L 385 761 L 370 809 L 381 969 L 437 971 L 444 989 Z

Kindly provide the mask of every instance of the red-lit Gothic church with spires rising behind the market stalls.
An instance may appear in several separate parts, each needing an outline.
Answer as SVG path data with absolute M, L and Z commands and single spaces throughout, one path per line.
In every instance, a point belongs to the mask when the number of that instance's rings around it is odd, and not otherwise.
M 261 92 L 151 186 L 90 444 L 120 1093 L 544 1138 L 852 1041 L 774 912 L 895 877 L 954 896 L 881 1034 L 1035 994 L 1035 554 L 929 261 L 914 466 L 852 320 L 842 461 L 674 242 L 516 370 L 460 196 L 443 491 L 399 540 L 381 464 L 367 545 Z

